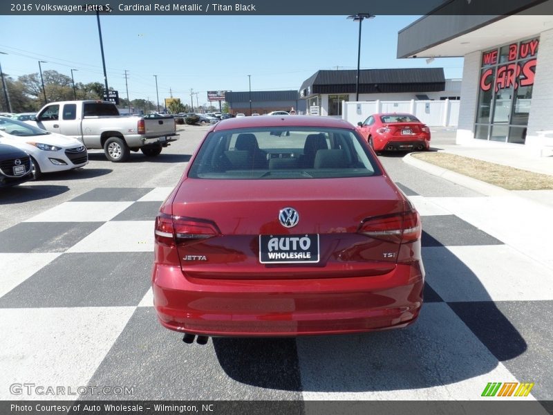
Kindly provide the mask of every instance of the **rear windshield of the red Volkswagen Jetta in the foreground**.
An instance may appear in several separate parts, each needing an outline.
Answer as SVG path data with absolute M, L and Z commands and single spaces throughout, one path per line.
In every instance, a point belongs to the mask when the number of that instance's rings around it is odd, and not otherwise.
M 338 178 L 382 174 L 362 138 L 346 129 L 263 127 L 214 131 L 191 178 Z

